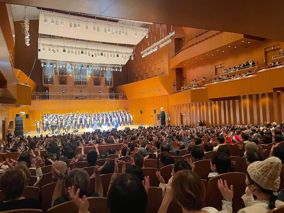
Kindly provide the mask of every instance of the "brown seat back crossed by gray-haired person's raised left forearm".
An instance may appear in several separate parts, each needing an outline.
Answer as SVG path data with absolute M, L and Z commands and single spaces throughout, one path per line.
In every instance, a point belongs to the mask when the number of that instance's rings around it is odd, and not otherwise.
M 56 186 L 56 182 L 48 183 L 41 187 L 42 210 L 44 213 L 51 207 L 52 195 Z M 65 193 L 65 180 L 62 183 L 62 195 Z

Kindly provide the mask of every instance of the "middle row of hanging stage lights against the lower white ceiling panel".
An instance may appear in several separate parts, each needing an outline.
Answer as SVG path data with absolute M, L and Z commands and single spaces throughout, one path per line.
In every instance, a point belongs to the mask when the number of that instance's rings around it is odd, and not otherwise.
M 115 58 L 121 55 L 122 59 L 134 59 L 134 53 L 126 53 L 126 52 L 118 52 L 118 51 L 110 51 L 110 50 L 100 50 L 100 49 L 87 49 L 87 48 L 79 48 L 79 47 L 67 47 L 67 46 L 60 46 L 60 45 L 51 45 L 51 44 L 43 44 L 39 43 L 39 46 L 42 46 L 42 51 L 48 51 L 53 53 L 59 53 L 59 48 L 63 49 L 63 53 L 71 54 L 71 55 L 85 55 L 91 57 L 107 57 L 107 58 Z M 45 48 L 47 47 L 47 49 Z M 118 54 L 119 53 L 119 54 Z

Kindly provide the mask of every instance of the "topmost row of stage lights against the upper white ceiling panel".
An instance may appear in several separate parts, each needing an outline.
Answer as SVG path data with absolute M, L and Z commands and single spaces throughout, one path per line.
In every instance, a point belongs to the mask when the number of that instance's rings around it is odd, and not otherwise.
M 59 20 L 60 20 L 60 25 L 64 25 L 64 21 L 69 22 L 70 28 L 81 28 L 81 25 L 85 27 L 85 29 L 89 29 L 89 25 L 92 26 L 92 29 L 94 31 L 100 31 L 104 27 L 104 32 L 105 33 L 112 33 L 112 34 L 119 34 L 119 35 L 128 35 L 128 31 L 135 31 L 135 37 L 138 36 L 138 33 L 141 33 L 141 36 L 144 37 L 146 35 L 146 38 L 148 38 L 148 29 L 137 29 L 137 28 L 131 28 L 131 27 L 126 27 L 126 26 L 117 26 L 117 25 L 112 25 L 112 24 L 104 24 L 100 22 L 91 22 L 88 20 L 80 20 L 80 19 L 74 19 L 74 18 L 68 18 L 68 17 L 62 17 L 62 16 L 56 16 L 56 15 L 51 15 L 51 14 L 43 14 L 44 15 L 44 23 L 48 24 L 55 24 L 59 25 Z M 88 25 L 89 24 L 89 25 Z M 100 28 L 102 27 L 102 28 Z

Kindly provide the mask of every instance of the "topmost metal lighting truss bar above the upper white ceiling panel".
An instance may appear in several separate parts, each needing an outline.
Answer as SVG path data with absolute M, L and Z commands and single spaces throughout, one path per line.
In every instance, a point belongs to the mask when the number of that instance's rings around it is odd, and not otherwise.
M 117 26 L 117 25 L 113 25 L 113 24 L 105 24 L 105 23 L 101 23 L 101 22 L 97 22 L 97 20 L 95 22 L 89 21 L 89 20 L 82 20 L 82 19 L 76 19 L 76 18 L 69 18 L 69 17 L 64 17 L 64 16 L 57 16 L 57 15 L 53 15 L 53 14 L 46 14 L 46 13 L 42 13 L 45 17 L 45 19 L 47 18 L 51 18 L 51 19 L 57 19 L 57 20 L 62 20 L 62 21 L 66 21 L 66 22 L 80 22 L 81 24 L 91 24 L 91 25 L 96 25 L 101 26 L 101 27 L 107 27 L 107 28 L 114 28 L 114 29 L 122 29 L 122 32 L 124 32 L 126 30 L 130 30 L 130 31 L 134 31 L 134 32 L 140 32 L 141 34 L 148 34 L 149 29 L 147 28 L 142 28 L 142 27 L 137 27 L 137 28 L 133 28 L 131 26 Z M 96 18 L 96 16 L 95 16 Z M 62 26 L 62 25 L 61 25 Z M 70 26 L 71 27 L 71 26 Z M 95 30 L 95 28 L 93 28 L 93 30 Z M 99 31 L 99 30 L 97 30 Z M 117 31 L 116 31 L 117 32 Z M 122 35 L 124 35 L 124 33 L 122 33 Z M 127 33 L 125 34 L 127 35 Z

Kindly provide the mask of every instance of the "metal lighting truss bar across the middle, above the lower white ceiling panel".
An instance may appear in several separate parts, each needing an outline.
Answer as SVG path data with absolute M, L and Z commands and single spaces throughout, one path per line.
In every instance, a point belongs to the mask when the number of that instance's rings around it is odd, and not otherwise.
M 70 46 L 61 46 L 61 45 L 52 45 L 52 44 L 45 44 L 45 43 L 39 43 L 39 45 L 41 45 L 43 48 L 45 47 L 49 47 L 51 49 L 55 48 L 63 48 L 63 49 L 67 49 L 67 53 L 70 53 L 70 51 L 72 50 L 78 50 L 78 51 L 87 51 L 87 52 L 101 52 L 101 53 L 109 53 L 109 54 L 120 54 L 120 55 L 127 55 L 128 58 L 131 56 L 134 56 L 134 53 L 127 53 L 127 52 L 118 52 L 118 51 L 111 51 L 111 50 L 101 50 L 101 49 L 90 49 L 90 48 L 82 48 L 82 47 L 70 47 Z M 86 55 L 86 54 L 85 54 Z M 90 54 L 89 54 L 90 56 Z M 96 56 L 96 55 L 95 55 Z

